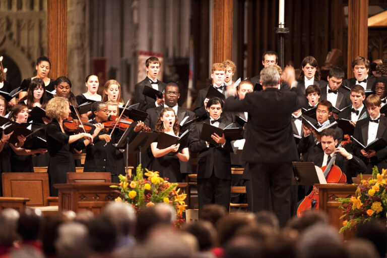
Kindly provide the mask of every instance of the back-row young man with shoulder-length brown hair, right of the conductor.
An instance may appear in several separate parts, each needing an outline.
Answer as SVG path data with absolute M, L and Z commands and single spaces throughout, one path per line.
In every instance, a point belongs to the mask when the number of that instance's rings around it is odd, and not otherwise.
M 318 68 L 317 60 L 314 57 L 308 56 L 302 60 L 300 67 L 300 76 L 298 78 L 297 90 L 305 93 L 305 89 L 309 85 L 317 85 L 320 88 L 325 86 L 327 82 L 321 80 L 320 69 Z

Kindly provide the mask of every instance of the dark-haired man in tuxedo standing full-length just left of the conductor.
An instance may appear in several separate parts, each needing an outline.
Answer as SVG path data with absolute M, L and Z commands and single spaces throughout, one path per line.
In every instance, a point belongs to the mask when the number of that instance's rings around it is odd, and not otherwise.
M 198 200 L 199 215 L 204 205 L 215 203 L 222 205 L 227 210 L 230 205 L 231 192 L 231 143 L 225 139 L 224 134 L 213 134 L 211 138 L 216 144 L 202 140 L 203 124 L 211 124 L 218 128 L 225 128 L 230 124 L 221 119 L 223 100 L 218 97 L 207 102 L 209 118 L 198 122 L 193 131 L 189 149 L 199 152 L 198 156 Z

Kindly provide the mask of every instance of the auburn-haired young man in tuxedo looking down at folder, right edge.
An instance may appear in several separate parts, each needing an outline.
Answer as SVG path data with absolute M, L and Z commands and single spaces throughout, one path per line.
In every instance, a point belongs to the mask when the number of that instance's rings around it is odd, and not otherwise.
M 371 94 L 365 99 L 364 105 L 367 107 L 369 118 L 357 121 L 353 137 L 364 146 L 375 139 L 383 138 L 387 141 L 387 118 L 380 115 L 380 97 Z M 353 141 L 352 146 L 355 156 L 361 158 L 367 165 L 366 174 L 372 174 L 373 166 L 377 166 L 379 172 L 387 168 L 387 146 L 368 151 L 365 151 L 356 141 Z

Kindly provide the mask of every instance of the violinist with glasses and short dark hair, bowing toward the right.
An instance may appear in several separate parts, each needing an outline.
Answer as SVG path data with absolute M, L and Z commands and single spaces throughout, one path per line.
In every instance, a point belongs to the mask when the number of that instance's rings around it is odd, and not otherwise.
M 102 101 L 96 101 L 91 107 L 91 111 L 95 116 L 91 124 L 95 125 L 90 134 L 93 136 L 93 145 L 86 148 L 86 160 L 84 172 L 110 172 L 112 182 L 118 182 L 118 174 L 124 173 L 124 168 L 117 168 L 117 160 L 115 155 L 115 147 L 113 143 L 117 143 L 121 138 L 123 131 L 114 129 L 113 134 L 109 135 L 109 129 L 105 128 L 103 123 L 107 125 L 109 118 L 109 110 L 107 104 Z M 134 131 L 139 132 L 142 129 L 143 123 L 139 122 Z M 107 144 L 106 144 L 107 143 Z M 106 145 L 105 145 L 106 144 Z

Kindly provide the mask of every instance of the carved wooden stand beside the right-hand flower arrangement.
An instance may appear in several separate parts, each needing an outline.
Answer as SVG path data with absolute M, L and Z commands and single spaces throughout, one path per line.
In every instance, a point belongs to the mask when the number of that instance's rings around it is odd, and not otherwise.
M 328 214 L 331 225 L 337 230 L 343 227 L 343 221 L 347 218 L 343 216 L 343 209 L 339 208 L 341 202 L 336 198 L 349 198 L 355 195 L 356 186 L 352 184 L 315 184 L 319 191 L 319 209 Z M 344 239 L 350 239 L 353 237 L 352 231 L 346 231 L 343 233 Z

